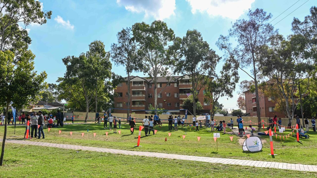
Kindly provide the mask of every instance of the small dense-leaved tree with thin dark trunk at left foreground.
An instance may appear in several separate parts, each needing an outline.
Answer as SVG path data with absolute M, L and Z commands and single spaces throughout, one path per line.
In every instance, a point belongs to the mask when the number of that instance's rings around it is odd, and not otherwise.
M 35 55 L 31 51 L 25 51 L 17 62 L 14 58 L 13 52 L 0 51 L 0 105 L 5 105 L 6 111 L 9 111 L 10 103 L 15 108 L 23 108 L 28 106 L 29 102 L 38 101 L 41 91 L 47 87 L 44 82 L 47 77 L 45 71 L 40 74 L 34 71 Z M 7 136 L 7 118 L 8 112 L 4 122 L 0 166 L 3 163 Z

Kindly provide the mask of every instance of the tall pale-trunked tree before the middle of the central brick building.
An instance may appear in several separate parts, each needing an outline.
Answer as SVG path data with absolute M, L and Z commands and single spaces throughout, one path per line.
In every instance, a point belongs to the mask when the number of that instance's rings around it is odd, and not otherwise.
M 175 37 L 174 31 L 165 22 L 154 21 L 151 25 L 145 22 L 132 26 L 133 40 L 137 42 L 138 52 L 136 66 L 154 83 L 154 107 L 157 110 L 157 77 L 166 76 L 170 81 L 176 73 L 175 64 L 179 57 L 181 39 Z

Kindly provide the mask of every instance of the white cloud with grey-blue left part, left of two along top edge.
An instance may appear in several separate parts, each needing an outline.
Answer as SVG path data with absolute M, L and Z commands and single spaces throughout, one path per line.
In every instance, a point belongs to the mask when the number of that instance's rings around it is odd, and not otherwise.
M 126 10 L 136 13 L 145 13 L 145 17 L 153 16 L 155 19 L 163 20 L 175 15 L 175 0 L 117 0 L 119 5 L 123 5 Z

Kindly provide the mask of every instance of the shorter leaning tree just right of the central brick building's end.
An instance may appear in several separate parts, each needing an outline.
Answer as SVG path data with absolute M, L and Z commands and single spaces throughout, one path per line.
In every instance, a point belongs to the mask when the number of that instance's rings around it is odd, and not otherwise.
M 215 103 L 220 97 L 233 97 L 233 91 L 236 83 L 239 81 L 239 74 L 236 70 L 237 66 L 233 63 L 224 63 L 220 75 L 216 75 L 213 79 L 209 79 L 204 91 L 205 102 L 211 103 L 212 118 L 215 114 Z

